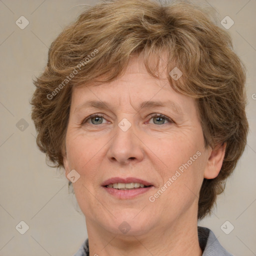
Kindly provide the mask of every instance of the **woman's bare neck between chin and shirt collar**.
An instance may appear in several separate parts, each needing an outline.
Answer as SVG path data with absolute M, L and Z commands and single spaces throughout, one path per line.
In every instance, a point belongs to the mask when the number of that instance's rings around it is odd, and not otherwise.
M 181 216 L 167 225 L 157 224 L 142 235 L 112 233 L 86 219 L 90 255 L 201 256 L 194 217 Z

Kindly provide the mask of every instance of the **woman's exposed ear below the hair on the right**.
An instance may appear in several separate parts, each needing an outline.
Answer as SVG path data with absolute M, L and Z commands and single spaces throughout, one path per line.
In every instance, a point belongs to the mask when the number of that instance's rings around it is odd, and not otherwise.
M 204 170 L 204 178 L 215 178 L 222 166 L 225 156 L 226 142 L 217 144 L 213 149 L 209 148 L 208 159 Z

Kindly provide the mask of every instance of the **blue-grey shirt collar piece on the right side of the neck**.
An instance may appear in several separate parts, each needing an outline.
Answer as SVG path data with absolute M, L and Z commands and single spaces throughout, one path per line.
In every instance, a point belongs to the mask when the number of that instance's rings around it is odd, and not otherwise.
M 207 227 L 198 226 L 198 239 L 202 256 L 233 256 L 219 243 L 214 233 Z

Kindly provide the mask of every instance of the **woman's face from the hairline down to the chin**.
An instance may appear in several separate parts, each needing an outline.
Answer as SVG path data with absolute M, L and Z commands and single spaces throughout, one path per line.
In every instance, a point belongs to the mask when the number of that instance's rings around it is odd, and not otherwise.
M 87 105 L 91 100 L 104 104 Z M 121 234 L 121 224 L 138 235 L 196 221 L 210 152 L 195 100 L 175 92 L 166 76 L 151 77 L 139 59 L 115 81 L 73 89 L 65 143 L 66 175 L 80 175 L 73 188 L 87 225 Z M 113 177 L 151 186 L 102 186 Z

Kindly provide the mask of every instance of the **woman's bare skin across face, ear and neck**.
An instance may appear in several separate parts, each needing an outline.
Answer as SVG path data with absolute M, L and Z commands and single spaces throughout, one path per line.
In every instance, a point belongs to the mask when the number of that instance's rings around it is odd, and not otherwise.
M 74 88 L 63 154 L 65 174 L 80 177 L 73 188 L 85 215 L 90 255 L 202 255 L 197 236 L 197 203 L 203 178 L 214 178 L 222 165 L 225 145 L 205 148 L 193 98 L 175 92 L 166 70 L 151 77 L 140 58 L 131 58 L 123 76 L 107 84 Z M 78 107 L 104 100 L 105 109 Z M 139 109 L 146 100 L 173 101 L 168 106 Z M 76 110 L 75 110 L 76 109 Z M 91 114 L 99 117 L 83 120 Z M 170 118 L 153 118 L 152 113 Z M 118 123 L 131 126 L 123 131 Z M 153 202 L 154 195 L 183 163 L 199 151 L 184 172 Z M 101 183 L 110 177 L 138 177 L 153 184 L 150 192 L 117 199 Z M 118 226 L 130 226 L 122 233 Z

